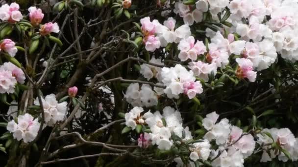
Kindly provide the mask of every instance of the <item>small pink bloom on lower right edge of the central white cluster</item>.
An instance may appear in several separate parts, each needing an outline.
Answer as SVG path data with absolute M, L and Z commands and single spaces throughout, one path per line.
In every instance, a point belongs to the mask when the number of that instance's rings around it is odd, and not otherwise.
M 202 84 L 199 81 L 183 83 L 183 90 L 189 99 L 193 99 L 197 94 L 203 92 Z

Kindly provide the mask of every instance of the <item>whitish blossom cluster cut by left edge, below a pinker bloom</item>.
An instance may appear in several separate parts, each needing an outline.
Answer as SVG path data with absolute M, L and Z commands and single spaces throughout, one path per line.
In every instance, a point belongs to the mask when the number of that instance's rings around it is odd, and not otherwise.
M 15 91 L 16 78 L 11 71 L 0 70 L 0 93 L 13 93 Z

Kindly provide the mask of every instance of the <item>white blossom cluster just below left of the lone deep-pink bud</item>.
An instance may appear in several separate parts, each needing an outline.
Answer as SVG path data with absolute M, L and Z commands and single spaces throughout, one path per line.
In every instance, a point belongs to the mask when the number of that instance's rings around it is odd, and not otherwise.
M 42 98 L 45 111 L 45 122 L 49 126 L 53 126 L 58 121 L 63 121 L 67 113 L 67 102 L 58 103 L 54 94 L 47 95 Z M 38 98 L 34 101 L 35 105 L 40 105 Z

